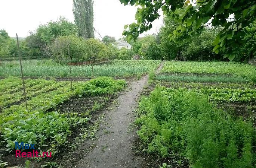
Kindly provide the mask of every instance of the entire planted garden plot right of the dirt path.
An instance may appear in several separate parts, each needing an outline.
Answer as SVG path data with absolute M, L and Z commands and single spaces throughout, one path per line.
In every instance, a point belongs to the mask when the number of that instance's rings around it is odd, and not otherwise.
M 235 62 L 165 62 L 139 102 L 141 149 L 163 167 L 255 167 L 255 72 Z

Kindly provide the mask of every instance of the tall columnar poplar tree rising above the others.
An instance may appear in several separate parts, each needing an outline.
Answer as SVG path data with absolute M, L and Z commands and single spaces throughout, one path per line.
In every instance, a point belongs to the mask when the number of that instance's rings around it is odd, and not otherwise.
M 87 39 L 94 38 L 93 0 L 73 0 L 73 13 L 78 35 Z

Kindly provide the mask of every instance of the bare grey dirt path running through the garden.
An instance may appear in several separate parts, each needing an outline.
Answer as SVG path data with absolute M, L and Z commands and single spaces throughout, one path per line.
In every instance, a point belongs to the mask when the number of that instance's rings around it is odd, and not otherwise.
M 163 67 L 161 63 L 158 72 Z M 83 159 L 78 161 L 78 168 L 108 168 L 108 167 L 142 167 L 146 165 L 141 156 L 133 154 L 132 142 L 138 139 L 130 124 L 135 119 L 133 111 L 138 107 L 137 100 L 142 92 L 148 75 L 141 80 L 132 82 L 126 91 L 118 97 L 118 106 L 106 111 L 105 119 L 98 131 L 99 140 L 96 147 Z

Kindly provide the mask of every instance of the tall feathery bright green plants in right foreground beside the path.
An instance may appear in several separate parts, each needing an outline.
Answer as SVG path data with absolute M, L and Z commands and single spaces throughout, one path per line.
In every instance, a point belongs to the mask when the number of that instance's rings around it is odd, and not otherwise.
M 138 136 L 149 153 L 189 159 L 191 167 L 253 167 L 255 130 L 214 107 L 205 95 L 157 86 L 139 103 Z

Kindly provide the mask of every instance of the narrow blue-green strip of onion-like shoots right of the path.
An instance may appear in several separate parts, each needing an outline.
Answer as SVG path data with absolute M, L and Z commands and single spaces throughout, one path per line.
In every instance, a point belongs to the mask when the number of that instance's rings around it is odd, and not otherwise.
M 247 83 L 243 77 L 225 75 L 203 75 L 203 74 L 160 74 L 155 77 L 160 81 L 182 81 L 182 82 L 211 82 L 211 83 Z

